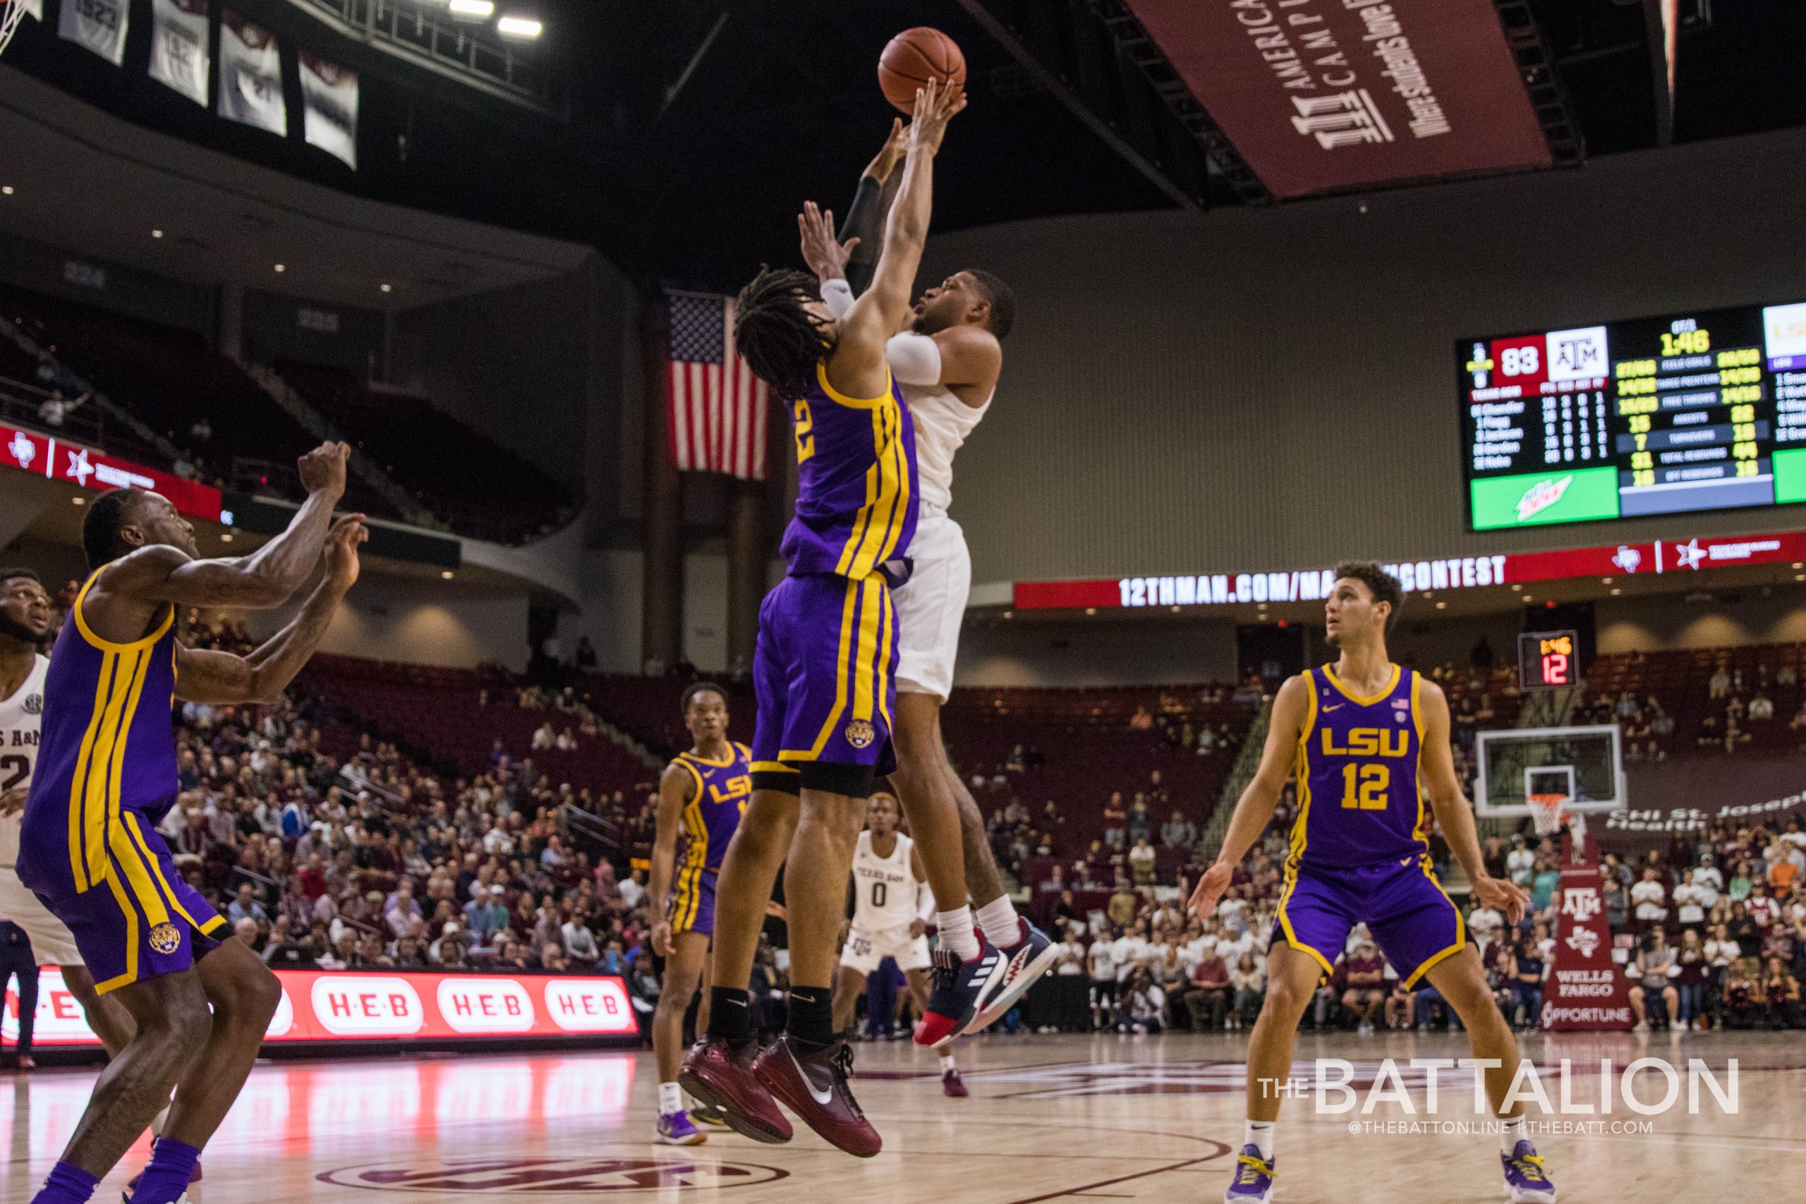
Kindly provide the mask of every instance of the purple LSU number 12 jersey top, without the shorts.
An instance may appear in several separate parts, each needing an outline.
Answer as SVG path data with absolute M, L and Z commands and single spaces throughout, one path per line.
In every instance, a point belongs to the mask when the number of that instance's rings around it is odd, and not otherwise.
M 1353 693 L 1327 664 L 1304 679 L 1299 818 L 1286 868 L 1340 870 L 1429 854 L 1418 671 L 1394 664 L 1385 690 L 1371 697 Z

